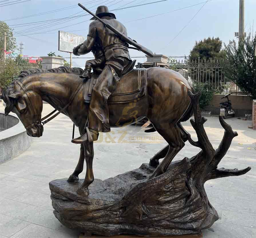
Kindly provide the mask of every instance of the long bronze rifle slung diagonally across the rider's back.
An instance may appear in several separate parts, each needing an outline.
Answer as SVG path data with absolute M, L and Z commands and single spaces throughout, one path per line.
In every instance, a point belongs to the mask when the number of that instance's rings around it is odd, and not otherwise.
M 118 35 L 123 41 L 127 42 L 130 45 L 133 45 L 134 47 L 136 47 L 136 49 L 138 49 L 139 51 L 142 51 L 143 53 L 149 55 L 150 57 L 153 57 L 154 54 L 152 51 L 150 51 L 149 49 L 147 49 L 146 47 L 136 43 L 135 41 L 133 41 L 132 39 L 130 39 L 129 37 L 125 36 L 123 33 L 121 33 L 120 31 L 116 30 L 114 27 L 112 27 L 111 25 L 105 23 L 104 21 L 102 21 L 102 19 L 100 19 L 99 17 L 97 17 L 95 14 L 93 14 L 91 11 L 89 11 L 88 9 L 86 9 L 82 4 L 78 3 L 78 6 L 81 7 L 82 9 L 84 9 L 85 11 L 87 11 L 88 13 L 90 13 L 92 16 L 94 16 L 97 20 L 99 20 L 106 28 L 110 29 L 111 31 L 113 31 L 116 35 Z

